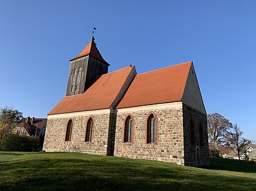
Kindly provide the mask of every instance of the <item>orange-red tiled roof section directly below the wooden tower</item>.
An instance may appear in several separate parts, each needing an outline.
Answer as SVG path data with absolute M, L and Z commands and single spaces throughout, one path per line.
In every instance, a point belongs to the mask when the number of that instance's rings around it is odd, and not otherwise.
M 66 96 L 48 114 L 110 108 L 133 67 L 122 68 L 97 78 L 86 92 Z

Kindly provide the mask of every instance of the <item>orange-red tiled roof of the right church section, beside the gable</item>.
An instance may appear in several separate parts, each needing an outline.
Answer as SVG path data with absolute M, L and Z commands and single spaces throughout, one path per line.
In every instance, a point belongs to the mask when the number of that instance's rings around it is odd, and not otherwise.
M 192 62 L 136 75 L 116 108 L 181 101 Z

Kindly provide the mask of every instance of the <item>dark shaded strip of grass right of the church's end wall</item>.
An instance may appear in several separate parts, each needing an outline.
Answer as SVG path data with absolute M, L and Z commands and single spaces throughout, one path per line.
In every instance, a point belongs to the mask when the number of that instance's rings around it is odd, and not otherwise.
M 256 164 L 254 162 L 239 161 L 234 159 L 210 158 L 210 166 L 200 168 L 256 173 Z

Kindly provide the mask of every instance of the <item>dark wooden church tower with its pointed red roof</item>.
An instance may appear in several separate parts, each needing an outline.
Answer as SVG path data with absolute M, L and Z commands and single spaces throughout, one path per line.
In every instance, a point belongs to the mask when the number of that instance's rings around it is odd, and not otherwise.
M 71 63 L 66 96 L 84 93 L 97 76 L 107 73 L 109 63 L 102 58 L 94 40 L 92 35 L 84 50 L 69 60 Z

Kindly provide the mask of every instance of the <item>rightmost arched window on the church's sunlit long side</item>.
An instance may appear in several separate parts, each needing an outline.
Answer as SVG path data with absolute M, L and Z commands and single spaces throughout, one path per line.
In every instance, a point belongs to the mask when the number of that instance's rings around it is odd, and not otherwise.
M 147 143 L 157 142 L 157 120 L 153 114 L 147 119 Z

